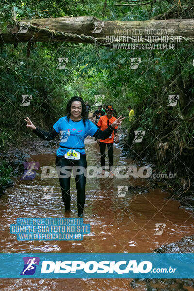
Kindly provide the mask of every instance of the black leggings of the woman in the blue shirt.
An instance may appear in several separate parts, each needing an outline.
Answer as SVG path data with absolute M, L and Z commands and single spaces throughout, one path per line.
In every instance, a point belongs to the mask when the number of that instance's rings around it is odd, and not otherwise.
M 80 154 L 79 160 L 66 159 L 66 158 L 64 158 L 64 156 L 56 157 L 55 164 L 56 164 L 56 168 L 58 168 L 57 169 L 58 175 L 60 173 L 59 183 L 61 186 L 62 199 L 63 199 L 64 205 L 65 205 L 65 210 L 70 210 L 70 208 L 71 208 L 71 206 L 70 206 L 70 202 L 71 202 L 70 179 L 71 179 L 71 177 L 65 178 L 64 172 L 68 171 L 69 176 L 70 176 L 70 173 L 72 171 L 72 167 L 87 168 L 86 155 Z M 63 170 L 61 171 L 61 167 L 66 167 L 66 169 L 63 168 Z M 62 176 L 64 176 L 64 177 L 62 177 Z M 83 213 L 84 204 L 85 204 L 85 183 L 86 183 L 86 177 L 85 177 L 83 171 L 81 172 L 80 175 L 79 175 L 79 173 L 76 174 L 75 181 L 76 181 L 76 190 L 77 190 L 78 215 L 81 215 Z

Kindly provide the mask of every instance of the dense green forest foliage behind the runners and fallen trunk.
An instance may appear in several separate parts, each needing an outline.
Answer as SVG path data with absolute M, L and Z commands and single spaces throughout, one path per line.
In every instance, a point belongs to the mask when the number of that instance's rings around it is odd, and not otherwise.
M 101 21 L 194 19 L 192 0 L 1 0 L 1 32 L 21 20 L 93 16 Z M 182 35 L 184 37 L 184 35 Z M 58 69 L 66 58 L 65 69 Z M 139 58 L 131 69 L 131 58 Z M 175 49 L 114 49 L 97 44 L 48 42 L 2 43 L 0 51 L 0 146 L 28 138 L 24 118 L 51 127 L 65 114 L 70 97 L 80 95 L 90 105 L 95 95 L 113 103 L 126 118 L 125 148 L 131 157 L 148 157 L 162 171 L 193 178 L 194 171 L 194 44 Z M 31 106 L 21 106 L 32 95 Z M 168 106 L 169 95 L 179 95 Z M 96 109 L 93 107 L 93 109 Z M 6 116 L 6 118 L 5 118 Z M 145 130 L 142 143 L 132 143 L 134 130 Z M 191 165 L 192 163 L 192 165 Z M 184 174 L 183 174 L 184 173 Z

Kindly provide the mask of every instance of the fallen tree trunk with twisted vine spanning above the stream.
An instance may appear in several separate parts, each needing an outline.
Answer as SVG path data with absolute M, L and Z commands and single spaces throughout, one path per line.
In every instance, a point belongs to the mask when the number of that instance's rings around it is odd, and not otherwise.
M 129 37 L 129 39 L 118 41 L 113 38 L 113 42 L 131 43 L 131 36 L 172 35 L 187 38 L 186 41 L 194 44 L 194 19 L 122 22 L 102 21 L 92 16 L 81 16 L 33 19 L 22 22 L 24 25 L 21 26 L 29 26 L 28 31 L 21 33 L 19 24 L 21 22 L 17 22 L 14 28 L 8 26 L 6 30 L 0 30 L 0 44 L 56 40 L 75 43 L 97 42 L 108 45 L 110 36 L 119 37 L 121 35 Z M 153 31 L 151 32 L 151 30 Z

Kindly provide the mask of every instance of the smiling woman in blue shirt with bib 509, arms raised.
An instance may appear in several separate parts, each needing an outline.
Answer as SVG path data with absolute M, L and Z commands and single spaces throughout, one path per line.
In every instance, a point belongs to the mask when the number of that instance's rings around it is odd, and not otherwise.
M 70 178 L 71 171 L 75 173 L 77 190 L 78 217 L 83 217 L 85 204 L 85 171 L 87 168 L 84 140 L 90 135 L 98 139 L 106 139 L 113 132 L 113 128 L 122 123 L 122 116 L 116 119 L 106 130 L 101 131 L 94 123 L 86 118 L 86 106 L 83 99 L 78 96 L 72 97 L 66 107 L 66 116 L 59 118 L 49 132 L 37 128 L 27 117 L 27 127 L 44 140 L 52 140 L 59 133 L 61 138 L 60 147 L 56 153 L 56 169 L 62 191 L 62 199 L 65 211 L 70 211 Z M 75 172 L 74 172 L 75 171 Z M 64 173 L 65 172 L 65 173 Z

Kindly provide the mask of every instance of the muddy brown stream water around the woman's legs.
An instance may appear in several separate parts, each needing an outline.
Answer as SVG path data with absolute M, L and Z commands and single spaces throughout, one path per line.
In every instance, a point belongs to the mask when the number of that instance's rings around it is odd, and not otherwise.
M 100 152 L 94 139 L 86 139 L 89 165 L 100 166 Z M 162 244 L 176 242 L 194 234 L 194 215 L 179 208 L 178 201 L 165 199 L 160 189 L 149 193 L 130 194 L 130 189 L 147 185 L 146 179 L 87 178 L 84 223 L 91 233 L 83 241 L 17 241 L 9 225 L 18 217 L 67 217 L 58 178 L 41 179 L 43 166 L 55 166 L 55 154 L 33 155 L 28 161 L 40 162 L 40 170 L 32 181 L 15 179 L 0 198 L 1 253 L 152 253 Z M 107 158 L 107 157 L 106 157 Z M 121 157 L 114 147 L 114 166 L 135 165 Z M 107 162 L 106 162 L 107 165 Z M 49 199 L 43 199 L 43 187 L 54 187 Z M 117 186 L 129 186 L 124 198 L 116 197 Z M 71 179 L 71 207 L 68 217 L 77 217 L 76 190 Z M 162 235 L 155 235 L 155 223 L 165 223 Z M 0 279 L 0 291 L 110 291 L 146 290 L 144 284 L 132 289 L 132 279 Z M 159 286 L 157 286 L 159 287 Z M 192 289 L 193 290 L 193 289 Z

